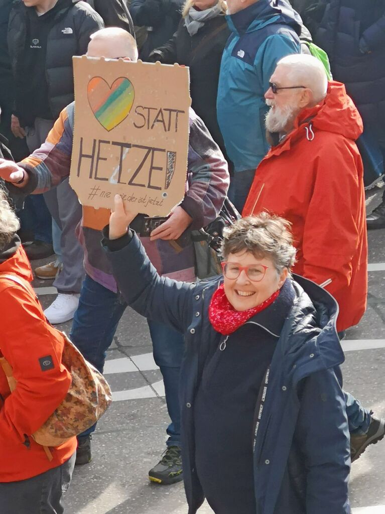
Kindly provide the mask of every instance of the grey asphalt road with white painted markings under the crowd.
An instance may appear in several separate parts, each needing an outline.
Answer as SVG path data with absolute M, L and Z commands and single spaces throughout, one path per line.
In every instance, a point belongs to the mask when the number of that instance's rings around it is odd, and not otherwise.
M 367 194 L 368 210 L 380 191 Z M 343 342 L 344 387 L 378 416 L 385 417 L 385 229 L 369 233 L 368 310 Z M 34 261 L 33 267 L 45 261 Z M 55 298 L 51 283 L 33 283 L 44 307 Z M 71 322 L 58 325 L 69 333 Z M 127 308 L 108 350 L 105 373 L 114 402 L 92 441 L 93 460 L 75 469 L 65 495 L 66 514 L 185 514 L 181 483 L 148 481 L 148 470 L 164 450 L 168 414 L 161 374 L 152 358 L 146 322 Z M 353 464 L 350 498 L 353 514 L 385 514 L 385 439 Z M 199 514 L 212 510 L 204 504 Z M 241 514 L 241 513 L 240 513 Z M 332 514 L 332 513 L 330 513 Z

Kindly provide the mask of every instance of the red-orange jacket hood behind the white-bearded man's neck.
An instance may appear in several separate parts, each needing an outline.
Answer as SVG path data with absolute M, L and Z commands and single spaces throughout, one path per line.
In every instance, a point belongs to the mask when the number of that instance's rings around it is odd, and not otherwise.
M 353 100 L 346 94 L 344 84 L 329 82 L 325 100 L 313 108 L 302 111 L 296 127 L 306 120 L 318 130 L 340 134 L 354 141 L 363 131 L 363 123 Z

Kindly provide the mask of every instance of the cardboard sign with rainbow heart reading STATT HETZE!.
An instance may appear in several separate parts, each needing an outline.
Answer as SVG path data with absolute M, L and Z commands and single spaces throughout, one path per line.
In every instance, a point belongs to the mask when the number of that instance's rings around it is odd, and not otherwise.
M 69 183 L 82 205 L 165 216 L 185 194 L 189 70 L 74 57 Z

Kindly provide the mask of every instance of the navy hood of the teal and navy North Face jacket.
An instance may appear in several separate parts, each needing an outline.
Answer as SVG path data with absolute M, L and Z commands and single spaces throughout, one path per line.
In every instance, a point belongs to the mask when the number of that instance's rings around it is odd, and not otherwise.
M 298 36 L 302 30 L 300 15 L 283 0 L 259 0 L 234 14 L 226 15 L 232 32 L 245 33 L 259 30 L 266 25 L 288 25 Z

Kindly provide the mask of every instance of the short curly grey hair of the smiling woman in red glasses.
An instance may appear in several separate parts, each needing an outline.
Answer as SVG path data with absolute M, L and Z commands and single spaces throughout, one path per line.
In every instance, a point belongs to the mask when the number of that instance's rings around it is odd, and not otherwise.
M 239 219 L 224 229 L 222 257 L 247 251 L 257 259 L 271 259 L 278 273 L 284 268 L 290 272 L 296 260 L 290 226 L 287 219 L 268 212 Z

